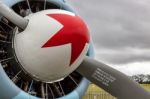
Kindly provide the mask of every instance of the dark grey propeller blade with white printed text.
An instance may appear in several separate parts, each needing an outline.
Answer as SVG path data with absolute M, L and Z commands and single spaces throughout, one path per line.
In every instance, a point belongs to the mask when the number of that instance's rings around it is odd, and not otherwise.
M 92 58 L 86 57 L 77 72 L 118 99 L 150 99 L 150 93 L 131 78 Z

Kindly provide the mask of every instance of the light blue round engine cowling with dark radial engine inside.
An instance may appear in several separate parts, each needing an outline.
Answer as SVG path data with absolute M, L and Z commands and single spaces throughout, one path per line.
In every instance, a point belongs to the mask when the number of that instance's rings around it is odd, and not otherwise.
M 75 13 L 63 0 L 3 0 L 16 13 L 25 17 L 31 12 L 46 9 L 62 9 Z M 33 79 L 20 67 L 16 59 L 12 40 L 16 26 L 1 16 L 0 19 L 0 98 L 1 99 L 37 99 L 59 98 L 80 99 L 86 91 L 89 81 L 74 71 L 62 81 L 44 83 Z M 87 53 L 93 57 L 93 47 Z M 8 93 L 8 94 L 6 94 Z

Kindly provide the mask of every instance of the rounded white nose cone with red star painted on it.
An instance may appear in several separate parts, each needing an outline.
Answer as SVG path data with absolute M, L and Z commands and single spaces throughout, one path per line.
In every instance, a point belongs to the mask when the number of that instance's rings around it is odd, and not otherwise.
M 14 37 L 15 54 L 24 71 L 43 82 L 56 82 L 72 73 L 88 50 L 90 36 L 83 20 L 64 10 L 27 18 L 27 28 Z

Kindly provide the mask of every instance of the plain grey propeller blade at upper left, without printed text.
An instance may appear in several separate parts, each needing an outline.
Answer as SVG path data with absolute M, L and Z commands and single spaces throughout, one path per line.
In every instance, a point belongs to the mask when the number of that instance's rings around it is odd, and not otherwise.
M 21 29 L 25 29 L 28 20 L 16 14 L 13 10 L 11 10 L 8 6 L 6 6 L 2 1 L 0 1 L 0 14 L 10 20 L 12 23 L 20 27 Z

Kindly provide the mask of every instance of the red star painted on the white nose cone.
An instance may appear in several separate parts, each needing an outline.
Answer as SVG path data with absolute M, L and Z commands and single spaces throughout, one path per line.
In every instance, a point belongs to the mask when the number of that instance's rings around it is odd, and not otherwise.
M 79 57 L 86 43 L 89 43 L 89 31 L 79 16 L 67 14 L 48 14 L 63 25 L 63 28 L 50 38 L 42 48 L 71 44 L 70 65 Z

